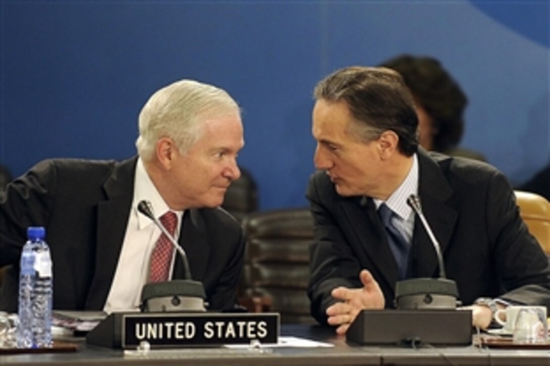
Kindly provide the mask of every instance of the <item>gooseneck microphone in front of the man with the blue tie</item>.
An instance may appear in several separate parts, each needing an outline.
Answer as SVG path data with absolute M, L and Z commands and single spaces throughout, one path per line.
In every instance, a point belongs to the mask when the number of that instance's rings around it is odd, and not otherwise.
M 398 309 L 431 310 L 431 309 L 455 309 L 458 298 L 456 282 L 447 279 L 441 254 L 441 246 L 422 213 L 420 198 L 410 195 L 407 203 L 420 218 L 423 228 L 426 230 L 433 248 L 437 254 L 439 264 L 439 278 L 413 278 L 397 282 L 395 285 L 395 302 Z

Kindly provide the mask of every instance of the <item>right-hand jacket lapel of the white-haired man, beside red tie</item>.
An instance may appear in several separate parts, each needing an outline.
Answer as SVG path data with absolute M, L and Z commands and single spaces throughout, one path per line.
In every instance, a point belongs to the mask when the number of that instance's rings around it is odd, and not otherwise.
M 178 242 L 187 254 L 191 277 L 195 281 L 201 281 L 210 257 L 210 245 L 200 210 L 186 210 L 182 222 L 182 233 Z M 174 278 L 184 278 L 183 262 L 180 258 L 176 261 Z

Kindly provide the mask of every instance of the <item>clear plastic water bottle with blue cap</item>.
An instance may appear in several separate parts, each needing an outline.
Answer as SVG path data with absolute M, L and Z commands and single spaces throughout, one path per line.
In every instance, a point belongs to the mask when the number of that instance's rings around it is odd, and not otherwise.
M 30 227 L 19 275 L 19 348 L 52 347 L 52 260 L 42 227 Z

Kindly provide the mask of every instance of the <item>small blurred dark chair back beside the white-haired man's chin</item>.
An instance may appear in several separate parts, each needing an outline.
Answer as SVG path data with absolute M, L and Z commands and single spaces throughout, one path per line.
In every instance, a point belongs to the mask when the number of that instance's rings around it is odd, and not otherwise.
M 239 169 L 241 176 L 227 189 L 222 207 L 240 222 L 246 215 L 258 210 L 258 188 L 250 171 Z

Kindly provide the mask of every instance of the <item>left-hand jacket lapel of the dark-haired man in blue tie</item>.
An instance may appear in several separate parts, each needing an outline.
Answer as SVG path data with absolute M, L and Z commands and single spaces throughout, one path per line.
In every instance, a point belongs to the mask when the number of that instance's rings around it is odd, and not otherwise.
M 341 206 L 350 227 L 355 231 L 357 242 L 360 243 L 360 247 L 354 249 L 356 253 L 365 254 L 365 259 L 359 258 L 360 263 L 372 263 L 375 267 L 372 271 L 380 273 L 387 285 L 394 290 L 398 280 L 397 264 L 389 248 L 386 232 L 378 219 L 374 202 L 371 198 L 360 198 L 360 204 L 357 204 L 357 201 L 347 199 Z M 377 278 L 378 282 L 380 280 Z

